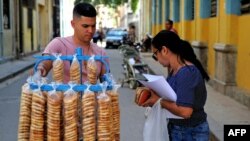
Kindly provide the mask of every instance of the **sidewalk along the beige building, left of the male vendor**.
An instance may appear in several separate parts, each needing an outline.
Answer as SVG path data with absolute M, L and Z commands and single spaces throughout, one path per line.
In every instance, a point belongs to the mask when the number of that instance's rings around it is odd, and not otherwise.
M 35 65 L 35 59 L 33 56 L 41 55 L 41 53 L 35 53 L 33 55 L 28 55 L 26 57 L 20 58 L 18 60 L 6 60 L 5 63 L 0 64 L 0 83 L 15 77 L 19 73 L 31 69 Z

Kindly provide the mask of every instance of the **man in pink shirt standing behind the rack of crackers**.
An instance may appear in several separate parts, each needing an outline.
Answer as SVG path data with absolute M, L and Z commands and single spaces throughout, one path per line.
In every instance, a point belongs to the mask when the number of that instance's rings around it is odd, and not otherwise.
M 73 9 L 73 19 L 71 26 L 74 34 L 68 37 L 54 38 L 45 48 L 43 55 L 52 55 L 60 53 L 62 55 L 74 55 L 75 49 L 80 47 L 83 55 L 100 55 L 106 56 L 104 49 L 99 48 L 91 40 L 96 31 L 96 9 L 88 3 L 79 3 Z M 84 61 L 82 61 L 84 62 Z M 100 61 L 97 63 L 98 77 L 101 78 L 106 72 L 104 64 Z M 52 61 L 44 61 L 38 66 L 42 76 L 46 76 L 52 68 Z M 70 61 L 64 61 L 64 82 L 69 81 Z M 82 82 L 87 80 L 86 63 L 82 63 Z

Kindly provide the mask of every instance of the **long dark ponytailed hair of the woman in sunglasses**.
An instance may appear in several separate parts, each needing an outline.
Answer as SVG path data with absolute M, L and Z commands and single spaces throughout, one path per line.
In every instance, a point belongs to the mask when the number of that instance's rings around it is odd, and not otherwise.
M 185 64 L 185 60 L 193 63 L 199 69 L 202 77 L 207 81 L 209 80 L 209 76 L 197 59 L 191 44 L 188 41 L 181 40 L 176 33 L 162 30 L 153 38 L 152 45 L 158 50 L 166 46 L 171 52 L 180 57 L 182 63 Z

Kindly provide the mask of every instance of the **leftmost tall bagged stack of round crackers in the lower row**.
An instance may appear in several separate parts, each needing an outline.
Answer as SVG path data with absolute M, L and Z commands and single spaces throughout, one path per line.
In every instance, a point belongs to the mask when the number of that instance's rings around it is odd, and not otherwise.
M 29 140 L 31 123 L 32 92 L 28 90 L 28 83 L 22 86 L 21 104 L 19 112 L 18 140 Z

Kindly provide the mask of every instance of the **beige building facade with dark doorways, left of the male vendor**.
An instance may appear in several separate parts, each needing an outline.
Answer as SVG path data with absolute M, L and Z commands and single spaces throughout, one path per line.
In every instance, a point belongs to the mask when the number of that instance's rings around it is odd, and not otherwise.
M 60 34 L 59 0 L 0 0 L 0 59 L 39 51 Z

